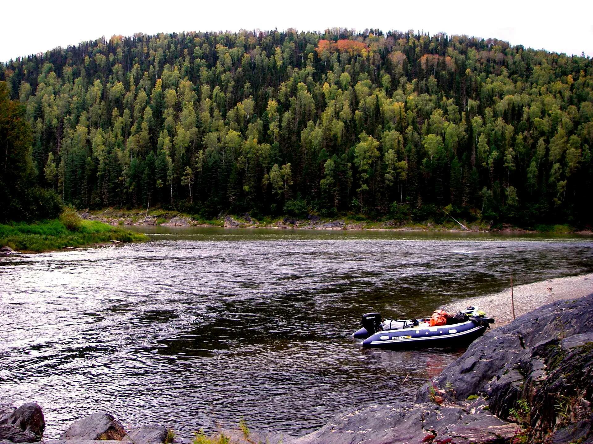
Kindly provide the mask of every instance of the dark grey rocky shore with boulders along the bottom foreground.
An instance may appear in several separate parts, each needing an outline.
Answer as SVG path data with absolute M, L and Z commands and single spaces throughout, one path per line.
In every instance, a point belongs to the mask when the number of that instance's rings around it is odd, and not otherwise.
M 382 400 L 361 406 L 301 437 L 240 427 L 196 442 L 592 444 L 592 319 L 593 294 L 556 300 L 477 339 L 419 389 L 415 403 Z M 43 429 L 37 404 L 0 408 L 0 443 L 38 442 Z M 109 413 L 91 414 L 68 427 L 59 440 L 45 442 L 106 441 L 178 442 L 158 424 L 125 430 Z

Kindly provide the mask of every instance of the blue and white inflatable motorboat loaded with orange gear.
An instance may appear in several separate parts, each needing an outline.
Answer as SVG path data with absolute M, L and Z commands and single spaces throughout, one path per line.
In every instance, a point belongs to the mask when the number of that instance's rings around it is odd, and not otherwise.
M 465 312 L 460 311 L 455 316 L 449 315 L 448 318 L 442 314 L 439 316 L 381 321 L 380 313 L 365 313 L 362 315 L 362 328 L 352 336 L 363 339 L 363 347 L 458 347 L 471 343 L 494 322 L 493 318 L 487 318 L 486 313 L 474 307 L 469 307 Z

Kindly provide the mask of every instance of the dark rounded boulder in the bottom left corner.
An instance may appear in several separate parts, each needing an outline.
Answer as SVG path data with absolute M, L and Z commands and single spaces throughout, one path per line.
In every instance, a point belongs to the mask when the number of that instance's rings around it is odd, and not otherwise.
M 36 403 L 0 408 L 0 440 L 36 442 L 41 439 L 44 429 L 43 411 Z

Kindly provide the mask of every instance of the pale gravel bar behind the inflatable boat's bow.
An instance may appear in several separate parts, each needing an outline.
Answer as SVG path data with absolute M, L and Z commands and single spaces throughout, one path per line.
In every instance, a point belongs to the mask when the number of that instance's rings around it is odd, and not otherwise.
M 513 288 L 515 317 L 553 301 L 577 299 L 591 293 L 593 293 L 593 273 L 517 285 Z M 495 318 L 496 323 L 493 326 L 500 327 L 513 320 L 510 287 L 499 293 L 463 299 L 442 308 L 448 313 L 457 313 L 461 308 L 470 305 L 477 305 L 481 310 L 486 311 L 488 316 Z

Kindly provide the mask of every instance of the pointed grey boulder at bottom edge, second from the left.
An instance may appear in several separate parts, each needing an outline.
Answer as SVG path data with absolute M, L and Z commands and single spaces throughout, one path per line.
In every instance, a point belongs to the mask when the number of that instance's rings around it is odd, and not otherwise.
M 97 412 L 85 416 L 72 424 L 60 435 L 65 440 L 117 440 L 126 435 L 122 423 L 106 412 Z

